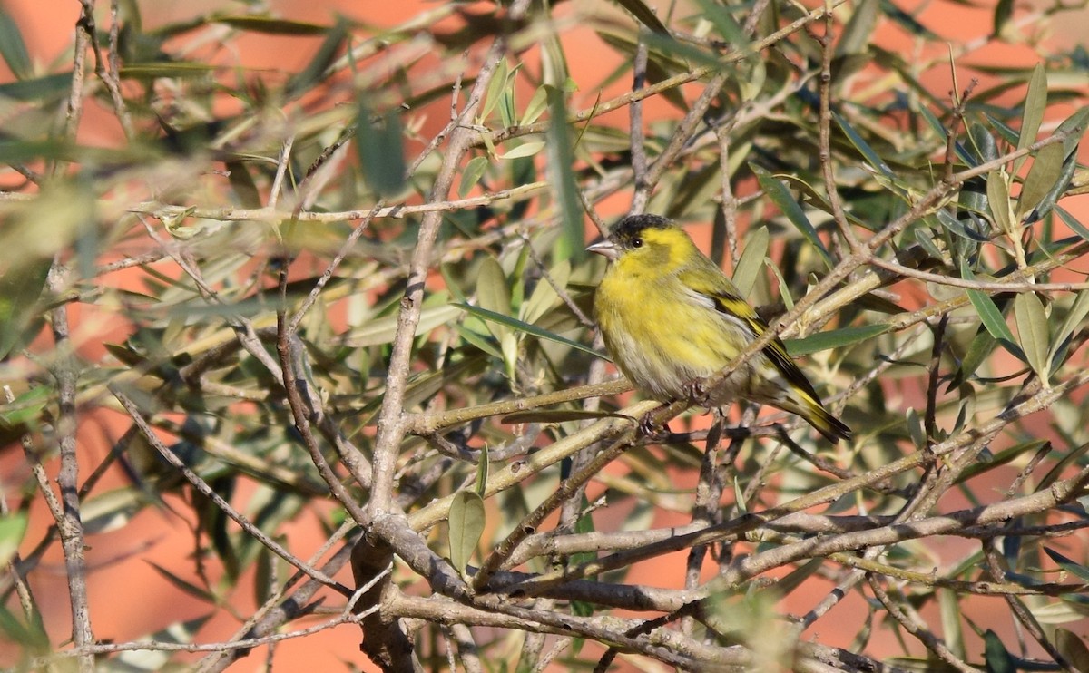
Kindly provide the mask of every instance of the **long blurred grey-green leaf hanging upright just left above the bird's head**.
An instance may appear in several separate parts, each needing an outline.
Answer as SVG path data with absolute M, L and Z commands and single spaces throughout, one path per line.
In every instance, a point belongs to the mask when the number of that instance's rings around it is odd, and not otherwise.
M 583 205 L 578 198 L 578 186 L 575 184 L 575 152 L 571 142 L 571 127 L 567 125 L 567 103 L 565 93 L 556 87 L 548 87 L 549 127 L 548 167 L 549 180 L 552 183 L 552 194 L 563 223 L 563 236 L 560 240 L 555 261 L 584 256 L 583 245 Z

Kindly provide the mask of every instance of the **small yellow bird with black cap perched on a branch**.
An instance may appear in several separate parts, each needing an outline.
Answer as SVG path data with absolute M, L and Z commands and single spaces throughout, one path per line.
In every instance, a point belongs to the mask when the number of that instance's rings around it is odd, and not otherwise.
M 719 267 L 672 221 L 626 217 L 586 248 L 609 258 L 594 313 L 613 362 L 662 402 L 688 396 L 768 330 Z M 710 391 L 715 406 L 743 397 L 797 414 L 831 442 L 851 437 L 775 339 Z

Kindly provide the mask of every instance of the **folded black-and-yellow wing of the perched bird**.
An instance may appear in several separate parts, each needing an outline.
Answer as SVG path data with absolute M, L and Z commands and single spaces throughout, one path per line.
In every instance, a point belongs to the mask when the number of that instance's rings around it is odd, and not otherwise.
M 723 315 L 727 320 L 742 322 L 754 339 L 768 331 L 768 323 L 764 322 L 749 303 L 737 294 L 737 289 L 730 279 L 726 278 L 718 267 L 708 260 L 707 269 L 684 270 L 678 274 L 678 280 L 684 286 L 700 297 L 705 297 L 710 305 L 713 303 L 714 309 Z M 798 366 L 794 364 L 786 353 L 786 346 L 778 337 L 763 347 L 763 354 L 780 375 L 803 392 L 808 394 L 813 401 L 819 400 L 812 383 L 802 374 Z M 820 403 L 818 402 L 818 405 Z

